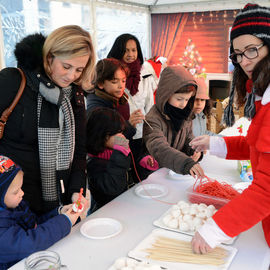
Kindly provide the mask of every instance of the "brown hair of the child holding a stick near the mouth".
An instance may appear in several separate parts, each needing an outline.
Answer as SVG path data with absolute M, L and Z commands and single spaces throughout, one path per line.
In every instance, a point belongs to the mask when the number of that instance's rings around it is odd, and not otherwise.
M 98 87 L 98 84 L 104 83 L 105 80 L 113 80 L 114 74 L 118 69 L 123 70 L 126 73 L 126 77 L 129 76 L 129 68 L 125 63 L 115 58 L 105 58 L 99 60 L 96 65 L 96 80 L 94 82 L 95 87 Z

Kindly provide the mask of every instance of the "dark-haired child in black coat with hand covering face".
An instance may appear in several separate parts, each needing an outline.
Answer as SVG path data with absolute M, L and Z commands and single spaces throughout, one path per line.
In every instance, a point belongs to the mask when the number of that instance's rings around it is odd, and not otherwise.
M 89 114 L 87 176 L 96 202 L 92 212 L 134 185 L 129 173 L 129 141 L 123 135 L 124 130 L 125 120 L 116 110 L 97 108 Z

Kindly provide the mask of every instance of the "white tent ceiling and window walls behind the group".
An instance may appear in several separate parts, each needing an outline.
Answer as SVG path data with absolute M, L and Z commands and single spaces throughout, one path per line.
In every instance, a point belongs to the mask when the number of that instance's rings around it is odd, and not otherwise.
M 42 10 L 38 8 L 41 2 Z M 138 37 L 144 57 L 149 58 L 151 14 L 235 10 L 248 2 L 270 6 L 270 0 L 2 0 L 0 69 L 15 65 L 12 53 L 22 36 L 34 31 L 47 34 L 64 24 L 79 24 L 90 31 L 98 58 L 106 57 L 112 41 L 125 32 Z M 44 6 L 50 6 L 50 13 Z

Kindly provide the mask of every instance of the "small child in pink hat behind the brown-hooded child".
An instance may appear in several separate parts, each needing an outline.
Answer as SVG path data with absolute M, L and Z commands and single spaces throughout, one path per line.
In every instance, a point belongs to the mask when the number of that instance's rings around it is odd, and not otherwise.
M 195 96 L 192 120 L 192 130 L 195 137 L 201 135 L 215 136 L 217 134 L 207 130 L 206 121 L 211 111 L 211 101 L 208 95 L 207 85 L 203 78 L 196 79 L 198 88 Z

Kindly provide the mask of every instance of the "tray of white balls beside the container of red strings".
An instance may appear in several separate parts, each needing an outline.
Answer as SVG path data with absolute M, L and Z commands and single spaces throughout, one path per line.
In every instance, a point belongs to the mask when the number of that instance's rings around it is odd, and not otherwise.
M 193 236 L 216 211 L 217 209 L 214 205 L 179 201 L 170 207 L 159 219 L 155 220 L 153 224 L 162 229 Z M 223 244 L 230 245 L 234 242 L 235 238 Z

